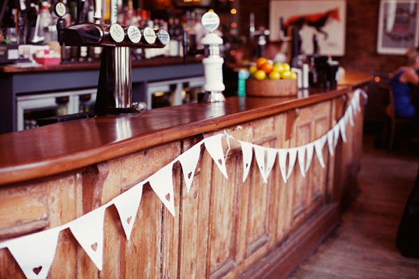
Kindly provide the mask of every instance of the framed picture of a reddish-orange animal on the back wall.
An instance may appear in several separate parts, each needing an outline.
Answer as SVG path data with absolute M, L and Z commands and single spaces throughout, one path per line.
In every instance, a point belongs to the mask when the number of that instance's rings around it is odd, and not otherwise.
M 270 40 L 279 40 L 281 18 L 285 26 L 300 27 L 304 54 L 313 54 L 317 33 L 321 55 L 345 55 L 346 0 L 271 0 Z

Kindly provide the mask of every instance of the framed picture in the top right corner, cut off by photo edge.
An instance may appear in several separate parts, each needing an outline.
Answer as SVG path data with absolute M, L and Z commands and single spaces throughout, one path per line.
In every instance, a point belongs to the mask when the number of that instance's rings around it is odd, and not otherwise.
M 419 1 L 381 0 L 378 15 L 378 54 L 403 55 L 409 47 L 418 47 Z

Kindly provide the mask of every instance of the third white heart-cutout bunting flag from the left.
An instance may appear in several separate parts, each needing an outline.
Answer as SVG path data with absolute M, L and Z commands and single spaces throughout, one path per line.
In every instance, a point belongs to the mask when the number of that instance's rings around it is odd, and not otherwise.
M 133 230 L 135 218 L 137 218 L 138 206 L 140 206 L 142 196 L 142 186 L 144 182 L 138 183 L 131 189 L 126 190 L 121 195 L 113 199 L 113 203 L 121 218 L 122 227 L 126 235 L 126 239 L 129 240 L 131 231 Z

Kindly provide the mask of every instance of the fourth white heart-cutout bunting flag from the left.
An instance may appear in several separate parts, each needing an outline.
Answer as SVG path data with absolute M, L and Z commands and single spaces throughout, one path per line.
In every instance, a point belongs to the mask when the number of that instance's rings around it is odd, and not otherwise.
M 148 181 L 154 193 L 160 198 L 168 211 L 175 216 L 175 197 L 173 195 L 173 163 L 170 163 L 149 177 Z

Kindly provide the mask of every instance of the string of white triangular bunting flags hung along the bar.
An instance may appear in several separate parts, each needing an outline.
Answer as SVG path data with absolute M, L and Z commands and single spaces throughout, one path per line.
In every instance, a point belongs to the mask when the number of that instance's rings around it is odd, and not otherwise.
M 159 171 L 152 174 L 152 176 L 149 176 L 148 179 L 141 181 L 129 190 L 126 190 L 126 192 L 112 199 L 107 204 L 103 204 L 103 206 L 98 209 L 94 209 L 93 211 L 84 214 L 84 216 L 59 227 L 3 241 L 0 243 L 0 249 L 8 248 L 8 250 L 10 250 L 10 253 L 28 279 L 45 279 L 47 278 L 48 271 L 50 270 L 50 266 L 54 259 L 55 250 L 57 249 L 59 232 L 64 229 L 70 229 L 73 236 L 75 236 L 75 239 L 90 257 L 91 261 L 94 262 L 98 270 L 102 270 L 103 219 L 105 216 L 105 209 L 109 206 L 115 205 L 119 213 L 124 233 L 126 234 L 126 239 L 130 239 L 137 211 L 140 206 L 142 186 L 147 182 L 154 190 L 154 193 L 161 199 L 161 202 L 166 206 L 168 211 L 175 216 L 174 186 L 172 182 L 173 164 L 179 162 L 182 166 L 186 190 L 189 192 L 200 158 L 201 146 L 204 145 L 223 176 L 228 179 L 226 161 L 230 151 L 230 140 L 239 142 L 242 147 L 243 182 L 246 181 L 249 174 L 253 151 L 256 163 L 258 164 L 258 169 L 263 178 L 263 183 L 267 183 L 267 179 L 270 176 L 277 158 L 284 183 L 290 178 L 297 160 L 301 175 L 305 177 L 311 165 L 314 152 L 316 153 L 316 157 L 318 158 L 321 167 L 325 168 L 323 160 L 323 147 L 325 146 L 325 143 L 328 142 L 330 156 L 334 156 L 334 150 L 337 146 L 339 135 L 342 141 L 346 142 L 346 125 L 347 123 L 350 123 L 351 126 L 355 126 L 353 117 L 361 111 L 361 94 L 366 102 L 367 94 L 361 89 L 357 89 L 349 102 L 344 116 L 337 121 L 337 124 L 333 126 L 328 133 L 314 142 L 289 149 L 274 149 L 259 146 L 251 142 L 237 140 L 224 130 L 224 133 L 206 137 L 204 140 L 201 140 L 189 150 L 175 158 L 175 160 L 168 163 L 168 165 L 159 169 Z M 224 155 L 221 141 L 223 137 L 226 137 L 228 146 L 226 155 Z M 288 165 L 286 164 L 287 158 Z

